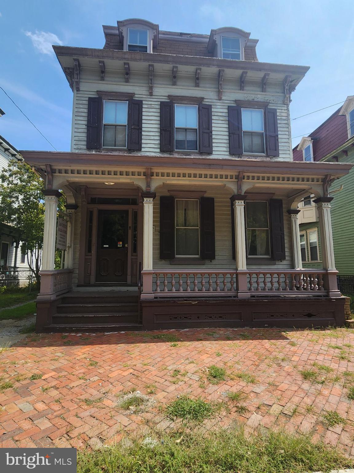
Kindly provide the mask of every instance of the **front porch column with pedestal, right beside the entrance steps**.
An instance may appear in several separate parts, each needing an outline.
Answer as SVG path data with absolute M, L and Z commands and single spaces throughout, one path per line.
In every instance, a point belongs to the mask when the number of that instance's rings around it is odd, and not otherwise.
M 155 192 L 142 192 L 143 198 L 143 298 L 153 298 L 152 294 L 152 213 Z

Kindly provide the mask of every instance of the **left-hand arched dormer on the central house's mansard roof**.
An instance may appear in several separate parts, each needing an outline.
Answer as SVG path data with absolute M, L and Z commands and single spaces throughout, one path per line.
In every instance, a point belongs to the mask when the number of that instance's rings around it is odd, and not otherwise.
M 159 41 L 159 25 L 141 18 L 117 21 L 119 39 L 124 51 L 152 53 Z

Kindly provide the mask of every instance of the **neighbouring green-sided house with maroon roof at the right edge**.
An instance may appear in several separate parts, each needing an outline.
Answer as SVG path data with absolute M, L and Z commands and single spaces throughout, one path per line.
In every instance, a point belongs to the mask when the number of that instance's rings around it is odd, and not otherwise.
M 354 163 L 354 96 L 348 96 L 325 122 L 293 149 L 295 161 Z M 343 292 L 354 308 L 354 172 L 335 182 L 329 180 L 334 256 Z M 299 204 L 299 227 L 303 267 L 322 267 L 319 217 L 314 196 Z

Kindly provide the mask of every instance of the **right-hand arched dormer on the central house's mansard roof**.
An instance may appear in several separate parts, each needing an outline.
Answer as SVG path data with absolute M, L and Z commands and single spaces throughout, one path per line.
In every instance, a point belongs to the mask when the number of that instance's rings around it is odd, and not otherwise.
M 250 34 L 232 26 L 211 30 L 208 51 L 213 53 L 214 57 L 244 61 L 244 48 Z

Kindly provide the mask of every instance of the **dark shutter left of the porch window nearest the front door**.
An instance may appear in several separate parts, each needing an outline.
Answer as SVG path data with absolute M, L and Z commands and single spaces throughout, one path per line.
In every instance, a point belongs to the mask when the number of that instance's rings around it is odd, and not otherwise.
M 175 257 L 175 199 L 160 197 L 160 259 Z

